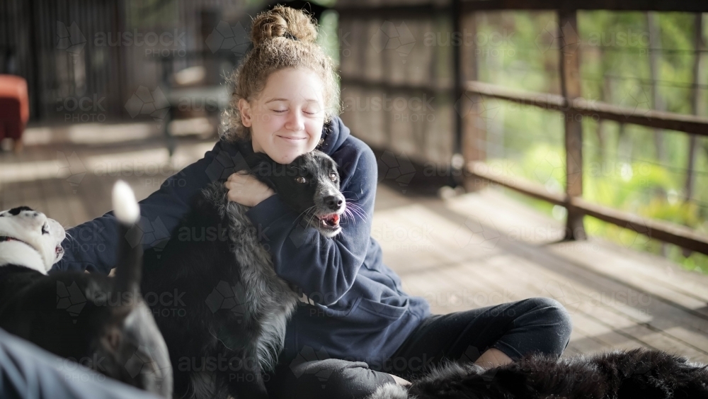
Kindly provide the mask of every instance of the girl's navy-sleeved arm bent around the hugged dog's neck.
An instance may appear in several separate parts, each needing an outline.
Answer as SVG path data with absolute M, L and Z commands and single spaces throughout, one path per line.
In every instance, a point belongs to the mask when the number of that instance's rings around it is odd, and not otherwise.
M 278 195 L 246 213 L 273 257 L 275 272 L 322 305 L 336 303 L 349 290 L 365 260 L 377 184 L 376 159 L 362 141 L 349 137 L 332 157 L 339 165 L 341 192 L 360 208 L 354 220 L 341 221 L 336 237 L 299 225 L 302 216 L 286 208 Z

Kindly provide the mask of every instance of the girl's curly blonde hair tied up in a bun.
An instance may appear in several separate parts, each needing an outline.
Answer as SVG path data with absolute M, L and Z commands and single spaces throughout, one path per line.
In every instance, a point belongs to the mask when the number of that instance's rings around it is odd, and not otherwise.
M 280 69 L 307 68 L 322 79 L 325 125 L 341 113 L 339 76 L 335 64 L 316 40 L 316 21 L 305 11 L 278 5 L 253 19 L 253 49 L 246 54 L 229 79 L 234 91 L 222 139 L 251 139 L 251 128 L 244 126 L 241 120 L 239 100 L 251 102 L 257 99 L 265 89 L 270 74 Z

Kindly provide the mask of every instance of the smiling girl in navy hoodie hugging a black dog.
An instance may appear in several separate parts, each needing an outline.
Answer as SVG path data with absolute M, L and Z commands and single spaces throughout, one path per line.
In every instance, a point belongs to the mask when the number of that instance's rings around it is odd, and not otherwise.
M 560 356 L 571 322 L 556 300 L 530 298 L 430 315 L 425 299 L 402 291 L 399 276 L 382 263 L 381 247 L 370 237 L 376 159 L 338 117 L 338 77 L 316 35 L 314 21 L 302 11 L 276 6 L 257 16 L 253 50 L 234 74 L 232 129 L 203 159 L 141 201 L 146 231 L 164 226 L 170 235 L 191 198 L 211 181 L 227 179 L 229 199 L 251 207 L 247 215 L 276 273 L 309 298 L 287 325 L 279 364 L 266 376 L 270 397 L 364 398 L 377 386 L 405 384 L 445 359 L 494 366 L 534 351 Z M 285 164 L 314 149 L 337 162 L 341 191 L 361 210 L 355 223 L 342 223 L 335 238 L 300 227 L 300 216 L 278 195 L 237 170 L 249 152 L 265 152 Z M 108 274 L 121 238 L 113 213 L 72 230 L 76 240 L 65 242 L 67 254 L 58 267 Z M 144 248 L 159 247 L 158 235 L 145 235 L 150 242 L 144 240 Z

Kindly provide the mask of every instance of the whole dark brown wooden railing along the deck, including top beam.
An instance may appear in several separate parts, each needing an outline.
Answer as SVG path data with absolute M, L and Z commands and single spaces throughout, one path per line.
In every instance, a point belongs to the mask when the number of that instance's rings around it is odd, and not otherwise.
M 465 159 L 464 169 L 468 172 L 464 183 L 468 189 L 479 186 L 477 181 L 491 182 L 506 186 L 528 196 L 548 201 L 565 207 L 566 239 L 582 240 L 586 238 L 583 225 L 584 216 L 592 216 L 608 223 L 625 227 L 635 232 L 647 235 L 656 240 L 670 242 L 692 251 L 708 254 L 708 236 L 682 225 L 661 220 L 642 218 L 632 213 L 623 212 L 607 206 L 590 203 L 583 199 L 583 127 L 582 118 L 577 116 L 593 116 L 600 120 L 614 120 L 622 124 L 643 125 L 654 129 L 666 129 L 685 132 L 691 135 L 692 145 L 696 137 L 708 135 L 708 118 L 699 116 L 670 113 L 653 110 L 636 110 L 624 108 L 609 103 L 588 101 L 581 96 L 581 74 L 578 61 L 579 51 L 564 51 L 564 47 L 577 46 L 580 43 L 577 27 L 577 10 L 606 9 L 612 11 L 683 11 L 693 13 L 708 12 L 708 1 L 671 1 L 671 0 L 598 0 L 595 2 L 578 0 L 450 0 L 449 3 L 416 4 L 416 5 L 378 5 L 367 6 L 355 4 L 353 1 L 343 1 L 336 6 L 341 18 L 367 18 L 376 15 L 379 18 L 430 18 L 433 14 L 445 14 L 452 19 L 453 31 L 462 31 L 465 18 L 470 18 L 475 11 L 500 11 L 505 9 L 544 9 L 556 10 L 558 25 L 564 27 L 560 33 L 559 72 L 561 94 L 523 93 L 477 81 L 477 71 L 474 65 L 470 67 L 467 60 L 474 60 L 474 46 L 453 47 L 454 82 L 452 86 L 441 87 L 436 84 L 389 84 L 387 82 L 369 82 L 365 79 L 343 77 L 342 83 L 363 87 L 377 87 L 399 91 L 453 91 L 455 99 L 467 101 L 459 105 L 469 112 L 457 112 L 455 115 L 455 154 L 462 154 Z M 469 20 L 467 20 L 469 22 Z M 697 18 L 700 21 L 700 18 Z M 472 26 L 474 28 L 474 26 Z M 698 30 L 700 32 L 700 30 Z M 473 32 L 474 34 L 474 32 Z M 696 35 L 696 44 L 700 43 L 700 35 Z M 465 53 L 466 52 L 466 53 Z M 698 60 L 698 57 L 696 57 Z M 698 64 L 694 66 L 695 77 Z M 478 142 L 484 142 L 485 132 L 476 128 L 475 118 L 479 110 L 480 97 L 511 101 L 532 107 L 559 111 L 565 114 L 564 137 L 566 150 L 566 187 L 564 193 L 549 193 L 544 186 L 534 184 L 509 176 L 499 176 L 490 172 L 484 163 L 484 154 Z M 697 95 L 694 93 L 695 99 Z M 458 109 L 459 111 L 459 109 Z M 694 112 L 696 107 L 694 106 Z M 463 115 L 464 114 L 464 115 Z M 690 154 L 690 165 L 687 168 L 688 179 L 692 181 L 694 153 Z M 687 186 L 690 186 L 687 184 Z

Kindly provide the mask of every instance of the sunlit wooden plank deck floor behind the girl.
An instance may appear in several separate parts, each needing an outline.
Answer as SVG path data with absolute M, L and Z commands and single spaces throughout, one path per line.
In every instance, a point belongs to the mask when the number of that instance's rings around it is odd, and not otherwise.
M 213 141 L 69 142 L 0 154 L 0 209 L 28 205 L 70 227 L 110 210 L 120 178 L 139 199 L 202 157 Z M 372 235 L 404 289 L 449 313 L 533 296 L 573 319 L 564 356 L 652 347 L 708 363 L 708 276 L 618 245 L 558 242 L 562 226 L 487 189 L 447 200 L 379 185 Z

